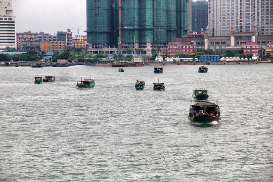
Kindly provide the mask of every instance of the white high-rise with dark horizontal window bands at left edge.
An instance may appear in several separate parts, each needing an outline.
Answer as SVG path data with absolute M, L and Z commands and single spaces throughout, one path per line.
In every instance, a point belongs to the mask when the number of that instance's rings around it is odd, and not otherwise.
M 16 17 L 13 16 L 12 0 L 0 2 L 0 51 L 6 47 L 16 49 Z

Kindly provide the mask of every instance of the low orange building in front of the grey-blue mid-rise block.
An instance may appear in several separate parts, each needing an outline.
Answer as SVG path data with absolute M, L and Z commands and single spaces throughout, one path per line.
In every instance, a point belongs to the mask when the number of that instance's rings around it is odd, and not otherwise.
M 40 49 L 41 51 L 45 51 L 47 53 L 62 53 L 64 52 L 66 47 L 65 41 L 41 41 Z

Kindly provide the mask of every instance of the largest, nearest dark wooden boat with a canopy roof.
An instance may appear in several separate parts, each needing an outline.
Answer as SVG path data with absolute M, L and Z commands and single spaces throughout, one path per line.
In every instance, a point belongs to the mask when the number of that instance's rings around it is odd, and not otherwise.
M 198 102 L 191 105 L 189 119 L 193 123 L 209 124 L 212 121 L 219 121 L 220 109 L 218 104 L 212 102 Z

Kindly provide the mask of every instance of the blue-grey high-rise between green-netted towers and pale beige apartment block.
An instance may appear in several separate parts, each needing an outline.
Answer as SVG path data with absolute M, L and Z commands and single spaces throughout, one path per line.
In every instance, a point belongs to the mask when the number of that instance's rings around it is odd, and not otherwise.
M 203 33 L 208 25 L 208 2 L 191 2 L 191 31 Z

